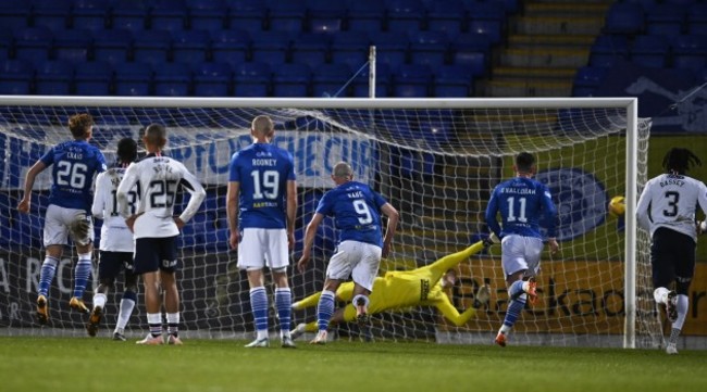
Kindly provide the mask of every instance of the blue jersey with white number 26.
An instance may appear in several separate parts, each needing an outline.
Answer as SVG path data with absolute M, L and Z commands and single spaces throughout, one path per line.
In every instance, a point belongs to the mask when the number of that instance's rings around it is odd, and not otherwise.
M 103 153 L 85 140 L 72 140 L 53 147 L 39 160 L 47 167 L 53 165 L 49 204 L 90 214 L 94 177 L 107 168 Z

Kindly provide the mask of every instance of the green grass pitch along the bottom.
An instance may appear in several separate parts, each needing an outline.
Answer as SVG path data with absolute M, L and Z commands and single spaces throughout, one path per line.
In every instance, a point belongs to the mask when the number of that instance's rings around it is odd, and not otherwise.
M 707 351 L 0 338 L 2 391 L 706 391 Z

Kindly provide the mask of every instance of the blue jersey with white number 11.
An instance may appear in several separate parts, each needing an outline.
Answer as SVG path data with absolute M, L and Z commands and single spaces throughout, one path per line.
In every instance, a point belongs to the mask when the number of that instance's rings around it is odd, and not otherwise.
M 496 220 L 500 212 L 503 229 Z M 548 223 L 547 237 L 555 237 L 557 208 L 550 191 L 532 178 L 516 177 L 494 189 L 486 206 L 486 224 L 498 238 L 507 235 L 542 238 L 539 218 L 545 215 Z

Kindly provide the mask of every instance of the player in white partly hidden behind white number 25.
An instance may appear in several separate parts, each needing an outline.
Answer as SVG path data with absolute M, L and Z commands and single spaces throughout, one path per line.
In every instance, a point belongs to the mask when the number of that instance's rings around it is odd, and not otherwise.
M 113 331 L 113 340 L 125 341 L 125 325 L 127 325 L 135 302 L 137 302 L 137 275 L 133 273 L 133 253 L 135 242 L 133 232 L 125 225 L 125 219 L 117 213 L 117 186 L 121 184 L 125 169 L 137 159 L 137 143 L 132 138 L 124 138 L 117 142 L 117 162 L 115 167 L 98 175 L 96 178 L 96 194 L 91 213 L 95 217 L 103 219 L 101 226 L 100 253 L 98 262 L 99 284 L 94 292 L 94 309 L 86 325 L 88 334 L 95 337 L 98 326 L 103 317 L 106 296 L 113 289 L 115 278 L 121 270 L 125 271 L 123 282 L 123 298 L 117 314 L 117 323 Z M 128 193 L 131 213 L 137 208 L 138 189 Z

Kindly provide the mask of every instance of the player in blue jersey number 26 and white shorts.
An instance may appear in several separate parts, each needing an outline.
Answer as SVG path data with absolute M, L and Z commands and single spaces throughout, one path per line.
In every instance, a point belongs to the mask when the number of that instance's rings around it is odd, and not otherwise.
M 74 292 L 69 305 L 82 313 L 89 312 L 83 296 L 90 279 L 94 252 L 94 223 L 90 218 L 90 207 L 94 200 L 94 177 L 106 170 L 106 157 L 97 147 L 88 143 L 94 131 L 94 118 L 89 114 L 76 114 L 69 118 L 69 129 L 74 140 L 50 149 L 29 168 L 25 177 L 24 197 L 17 205 L 21 213 L 29 212 L 35 178 L 47 167 L 53 166 L 53 185 L 45 215 L 46 255 L 41 265 L 37 295 L 37 318 L 42 325 L 49 320 L 47 303 L 49 287 L 54 279 L 69 235 L 78 254 L 74 271 Z

